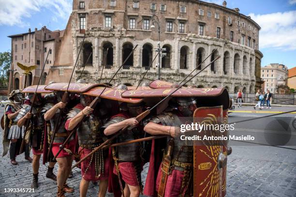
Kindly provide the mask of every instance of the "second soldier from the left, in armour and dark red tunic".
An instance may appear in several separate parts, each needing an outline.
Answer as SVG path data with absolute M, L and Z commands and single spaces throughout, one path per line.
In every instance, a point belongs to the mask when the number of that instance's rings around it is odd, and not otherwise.
M 30 119 L 30 126 L 27 128 L 27 134 L 25 136 L 26 142 L 29 142 L 30 147 L 32 147 L 33 152 L 33 181 L 31 183 L 32 188 L 38 188 L 38 174 L 40 166 L 40 157 L 43 154 L 43 143 L 44 143 L 44 119 L 41 115 L 41 110 L 44 105 L 44 99 L 42 99 L 41 94 L 36 94 L 36 99 L 34 102 L 32 113 L 30 113 L 31 99 L 33 94 L 29 93 L 27 100 L 25 100 L 22 108 L 17 115 L 16 120 L 18 127 L 23 127 L 27 121 Z M 46 177 L 57 181 L 56 175 L 53 173 L 54 162 L 49 162 L 48 169 L 46 172 Z

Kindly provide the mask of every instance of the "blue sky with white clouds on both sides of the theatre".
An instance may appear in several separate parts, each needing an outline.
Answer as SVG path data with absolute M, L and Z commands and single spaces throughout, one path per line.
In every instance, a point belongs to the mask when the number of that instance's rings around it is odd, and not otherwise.
M 207 0 L 222 4 L 223 0 Z M 260 26 L 261 66 L 282 63 L 296 67 L 296 0 L 226 0 L 228 8 L 239 8 Z M 72 0 L 0 0 L 0 52 L 11 48 L 8 35 L 40 29 L 64 29 L 72 11 Z

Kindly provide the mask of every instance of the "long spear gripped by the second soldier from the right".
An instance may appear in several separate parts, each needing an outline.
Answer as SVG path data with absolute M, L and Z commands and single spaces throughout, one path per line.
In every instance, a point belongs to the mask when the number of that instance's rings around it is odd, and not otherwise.
M 137 115 L 135 117 L 135 119 L 140 122 L 141 120 L 143 120 L 152 110 L 154 110 L 156 107 L 158 107 L 165 99 L 169 98 L 170 96 L 172 96 L 175 92 L 178 91 L 178 89 L 180 89 L 182 86 L 184 86 L 185 84 L 187 84 L 190 80 L 192 80 L 196 75 L 198 75 L 200 72 L 202 72 L 203 70 L 205 70 L 209 65 L 211 65 L 213 62 L 215 62 L 217 59 L 219 59 L 221 56 L 218 56 L 217 58 L 215 58 L 213 61 L 211 61 L 204 69 L 200 70 L 198 73 L 196 73 L 195 75 L 193 75 L 188 81 L 186 81 L 184 84 L 180 85 L 178 88 L 176 88 L 172 93 L 170 93 L 168 96 L 166 96 L 164 99 L 162 99 L 161 101 L 159 101 L 156 105 L 154 105 L 152 108 L 149 108 L 148 110 L 146 110 L 145 112 Z M 120 134 L 122 134 L 123 132 L 125 132 L 130 126 L 126 126 L 124 128 L 122 128 L 120 131 L 118 131 L 116 134 L 114 134 L 111 138 L 109 138 L 108 140 L 104 141 L 100 146 L 96 147 L 93 151 L 91 151 L 88 155 L 86 155 L 83 159 L 81 159 L 80 161 L 78 161 L 76 164 L 74 164 L 74 166 L 72 166 L 72 168 L 76 167 L 77 165 L 79 165 L 81 162 L 85 161 L 89 156 L 91 156 L 92 154 L 94 154 L 95 152 L 97 152 L 98 150 L 100 150 L 101 148 L 103 148 L 105 145 L 107 145 L 107 143 L 111 142 L 112 140 L 114 140 L 115 138 L 117 138 Z M 151 138 L 149 138 L 149 140 L 151 140 Z

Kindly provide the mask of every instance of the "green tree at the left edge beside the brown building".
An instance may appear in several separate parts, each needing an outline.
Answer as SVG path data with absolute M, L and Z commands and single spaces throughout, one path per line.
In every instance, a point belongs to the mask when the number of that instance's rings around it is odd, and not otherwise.
M 9 80 L 9 69 L 11 65 L 11 53 L 0 52 L 0 86 L 7 87 Z

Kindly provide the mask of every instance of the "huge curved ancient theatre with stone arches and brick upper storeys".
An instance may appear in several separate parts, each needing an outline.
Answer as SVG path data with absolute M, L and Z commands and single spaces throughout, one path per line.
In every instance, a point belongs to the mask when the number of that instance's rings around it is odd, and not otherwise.
M 217 5 L 199 0 L 74 0 L 66 28 L 68 37 L 63 38 L 71 40 L 73 47 L 62 41 L 62 45 L 68 47 L 60 50 L 72 52 L 73 59 L 59 63 L 65 58 L 59 55 L 51 69 L 53 73 L 70 72 L 82 45 L 74 81 L 86 64 L 82 78 L 98 83 L 105 65 L 101 82 L 107 82 L 137 45 L 111 82 L 135 85 L 157 55 L 155 49 L 160 42 L 166 49 L 165 56 L 163 53 L 160 62 L 155 58 L 146 75 L 147 81 L 159 77 L 159 64 L 161 79 L 179 83 L 192 70 L 197 68 L 194 74 L 221 56 L 191 84 L 226 87 L 229 92 L 241 88 L 253 93 L 255 86 L 260 86 L 260 72 L 255 76 L 262 58 L 258 51 L 259 30 L 251 17 L 240 14 L 238 8 L 227 8 L 225 1 Z M 214 49 L 217 51 L 209 56 Z M 256 56 L 256 51 L 261 55 Z M 209 58 L 198 66 L 207 56 Z M 257 63 L 256 58 L 259 58 Z M 61 76 L 60 81 L 66 78 Z

